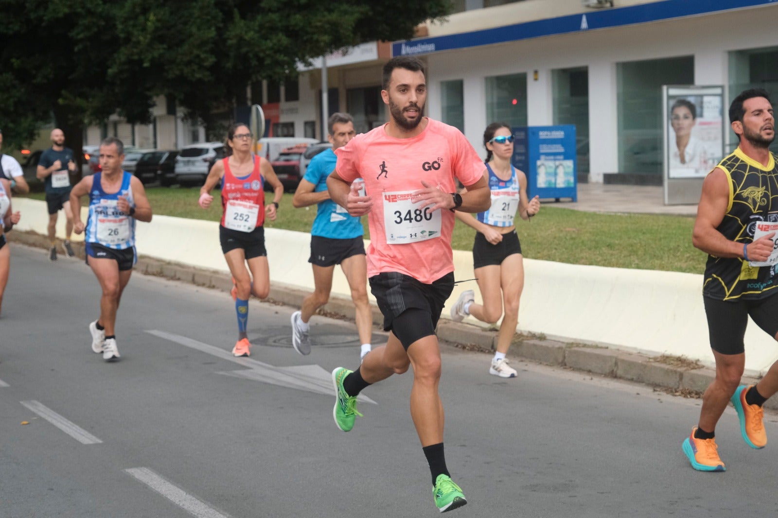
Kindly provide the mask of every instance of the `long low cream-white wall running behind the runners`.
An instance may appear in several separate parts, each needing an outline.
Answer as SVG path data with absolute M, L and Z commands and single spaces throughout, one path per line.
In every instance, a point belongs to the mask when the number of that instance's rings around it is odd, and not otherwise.
M 43 201 L 16 198 L 13 204 L 15 210 L 22 212 L 17 229 L 46 233 Z M 86 208 L 82 211 L 86 219 Z M 219 247 L 216 222 L 156 215 L 150 224 L 138 222 L 137 230 L 138 254 L 229 271 Z M 64 233 L 65 222 L 60 217 L 58 236 Z M 73 240 L 82 239 L 73 236 Z M 314 278 L 308 263 L 310 235 L 265 229 L 265 239 L 271 282 L 313 289 Z M 700 261 L 703 260 L 700 254 Z M 472 254 L 454 250 L 454 267 L 457 278 L 471 278 Z M 524 260 L 524 270 L 518 331 L 651 355 L 685 356 L 713 365 L 701 294 L 702 275 L 532 259 Z M 473 289 L 476 300 L 481 301 L 475 282 L 465 282 L 455 287 L 448 306 L 465 289 Z M 335 269 L 332 293 L 349 296 L 349 285 L 339 268 Z M 443 318 L 447 317 L 444 310 Z M 485 326 L 472 317 L 465 322 Z M 778 359 L 776 342 L 753 322 L 748 325 L 745 342 L 749 373 L 764 373 Z

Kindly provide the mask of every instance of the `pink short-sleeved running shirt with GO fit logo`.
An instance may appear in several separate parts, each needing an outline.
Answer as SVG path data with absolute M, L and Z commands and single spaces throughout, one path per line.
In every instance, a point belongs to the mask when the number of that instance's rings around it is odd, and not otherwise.
M 394 138 L 384 126 L 356 135 L 335 150 L 335 172 L 346 182 L 363 178 L 373 198 L 368 214 L 370 247 L 367 275 L 398 271 L 425 284 L 454 271 L 451 232 L 454 212 L 416 209 L 410 193 L 423 189 L 421 180 L 443 192 L 454 192 L 456 177 L 475 184 L 486 169 L 461 131 L 427 118 L 413 138 Z

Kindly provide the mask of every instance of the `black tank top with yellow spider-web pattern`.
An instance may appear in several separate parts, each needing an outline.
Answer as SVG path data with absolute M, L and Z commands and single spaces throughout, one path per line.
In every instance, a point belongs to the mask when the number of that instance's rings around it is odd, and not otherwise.
M 718 167 L 730 184 L 727 214 L 717 230 L 728 240 L 751 243 L 756 222 L 778 222 L 778 167 L 770 153 L 767 166 L 749 158 L 740 148 Z M 703 295 L 719 300 L 762 299 L 778 288 L 778 266 L 752 267 L 740 257 L 708 256 Z

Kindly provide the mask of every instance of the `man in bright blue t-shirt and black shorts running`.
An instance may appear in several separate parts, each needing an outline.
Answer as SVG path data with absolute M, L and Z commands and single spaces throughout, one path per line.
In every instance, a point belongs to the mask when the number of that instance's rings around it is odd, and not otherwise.
M 332 114 L 328 130 L 332 149 L 325 149 L 310 161 L 292 200 L 297 208 L 318 204 L 314 227 L 310 231 L 308 259 L 314 268 L 314 292 L 303 299 L 300 311 L 292 314 L 292 345 L 300 354 L 310 353 L 308 321 L 329 300 L 335 264 L 340 264 L 356 307 L 356 331 L 364 358 L 370 352 L 373 327 L 373 313 L 367 299 L 364 229 L 362 221 L 332 201 L 327 191 L 327 177 L 335 170 L 337 162 L 335 149 L 348 144 L 356 131 L 351 115 L 342 113 Z

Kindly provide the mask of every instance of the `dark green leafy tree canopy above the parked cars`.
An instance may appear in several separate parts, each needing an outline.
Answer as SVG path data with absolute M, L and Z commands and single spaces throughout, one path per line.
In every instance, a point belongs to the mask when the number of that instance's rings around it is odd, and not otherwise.
M 0 0 L 5 149 L 54 120 L 80 149 L 86 124 L 149 123 L 156 96 L 193 117 L 245 103 L 246 86 L 371 40 L 413 36 L 449 0 Z

